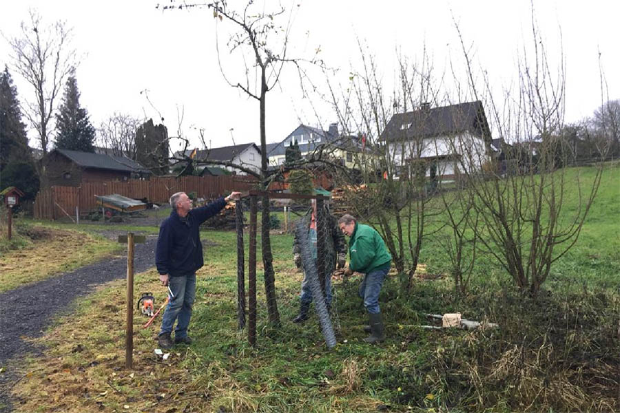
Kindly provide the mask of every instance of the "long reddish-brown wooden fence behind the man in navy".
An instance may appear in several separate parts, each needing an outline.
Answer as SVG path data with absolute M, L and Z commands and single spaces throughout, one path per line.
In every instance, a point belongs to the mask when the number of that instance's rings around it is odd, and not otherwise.
M 170 195 L 183 191 L 195 192 L 198 198 L 213 199 L 230 191 L 256 189 L 250 176 L 182 176 L 154 177 L 150 180 L 127 182 L 83 182 L 81 187 L 50 187 L 41 189 L 34 200 L 34 218 L 56 220 L 97 208 L 95 195 L 118 193 L 127 198 L 145 199 L 156 204 L 168 202 Z

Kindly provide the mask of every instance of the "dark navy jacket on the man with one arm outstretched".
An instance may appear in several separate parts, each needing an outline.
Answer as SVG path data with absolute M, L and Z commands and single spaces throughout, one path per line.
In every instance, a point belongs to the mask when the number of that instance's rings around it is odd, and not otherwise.
M 224 198 L 218 198 L 204 207 L 192 209 L 187 213 L 187 222 L 183 222 L 176 210 L 172 210 L 159 227 L 155 250 L 158 273 L 178 277 L 195 273 L 203 266 L 200 224 L 220 212 L 225 205 Z

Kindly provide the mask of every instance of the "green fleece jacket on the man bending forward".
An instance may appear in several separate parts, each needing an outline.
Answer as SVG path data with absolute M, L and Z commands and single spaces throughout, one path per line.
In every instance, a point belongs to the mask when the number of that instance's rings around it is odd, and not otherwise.
M 381 235 L 373 227 L 355 222 L 355 231 L 349 240 L 349 268 L 368 274 L 391 260 Z

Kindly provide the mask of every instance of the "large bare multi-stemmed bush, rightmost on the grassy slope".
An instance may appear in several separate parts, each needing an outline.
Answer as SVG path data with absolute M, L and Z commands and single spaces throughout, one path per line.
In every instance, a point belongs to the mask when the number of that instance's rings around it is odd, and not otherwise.
M 506 92 L 502 108 L 493 99 L 486 76 L 482 76 L 482 87 L 475 83 L 471 57 L 460 32 L 459 36 L 471 94 L 477 99 L 486 97 L 494 133 L 509 143 L 502 167 L 463 174 L 468 191 L 473 193 L 472 211 L 482 220 L 477 238 L 483 251 L 495 257 L 521 290 L 536 295 L 552 264 L 577 242 L 603 169 L 601 165 L 587 186 L 579 180 L 571 182 L 577 193 L 567 191 L 562 166 L 568 164 L 569 152 L 561 135 L 566 98 L 564 55 L 553 65 L 535 23 L 532 30 L 531 50 L 524 47 L 519 59 L 518 89 Z M 489 143 L 486 151 L 491 153 Z M 462 166 L 479 156 L 473 148 L 464 149 Z M 569 197 L 577 197 L 575 211 L 566 207 Z

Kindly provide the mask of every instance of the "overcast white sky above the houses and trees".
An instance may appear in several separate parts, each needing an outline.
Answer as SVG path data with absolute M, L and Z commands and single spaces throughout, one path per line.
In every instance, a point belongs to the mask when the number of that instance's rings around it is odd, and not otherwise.
M 156 8 L 158 3 L 169 1 L 0 0 L 0 30 L 6 37 L 19 34 L 28 8 L 38 10 L 44 23 L 62 19 L 73 28 L 73 45 L 81 54 L 76 72 L 81 105 L 96 127 L 113 112 L 146 116 L 156 123 L 161 114 L 169 135 L 175 136 L 182 112 L 183 134 L 193 145 L 199 145 L 198 129 L 204 129 L 212 147 L 231 145 L 232 138 L 237 144 L 259 143 L 258 101 L 230 87 L 220 72 L 212 12 L 163 12 Z M 534 3 L 552 63 L 557 64 L 560 44 L 564 48 L 566 121 L 590 116 L 601 105 L 599 51 L 609 98 L 620 98 L 620 1 Z M 265 9 L 274 4 L 265 1 Z M 415 60 L 426 45 L 435 69 L 449 70 L 451 59 L 460 56 L 454 17 L 471 45 L 475 65 L 484 67 L 495 86 L 514 82 L 517 52 L 528 44 L 532 32 L 528 1 L 283 0 L 282 4 L 294 10 L 289 56 L 310 57 L 320 47 L 327 65 L 339 67 L 347 76 L 351 65 L 358 67 L 360 39 L 377 57 L 386 81 L 394 78 L 397 49 Z M 220 23 L 223 29 L 226 26 Z M 235 61 L 228 56 L 226 39 L 220 31 L 223 67 L 230 74 Z M 6 41 L 0 38 L 2 66 L 10 65 L 9 56 Z M 337 120 L 328 103 L 302 97 L 292 68 L 285 72 L 280 87 L 268 94 L 267 142 L 282 140 L 300 121 L 313 126 L 321 122 L 327 128 Z M 19 98 L 30 98 L 30 87 L 16 73 L 12 76 Z M 232 80 L 242 81 L 234 76 Z M 322 78 L 313 81 L 324 83 Z M 145 90 L 152 105 L 141 94 Z

